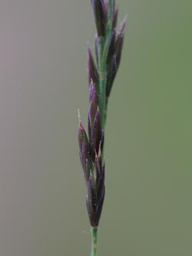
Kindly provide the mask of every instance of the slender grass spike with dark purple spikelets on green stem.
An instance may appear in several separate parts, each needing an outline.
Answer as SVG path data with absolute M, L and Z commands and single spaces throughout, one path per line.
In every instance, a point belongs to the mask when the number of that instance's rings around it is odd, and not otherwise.
M 81 165 L 87 186 L 86 204 L 91 224 L 91 255 L 97 256 L 98 224 L 104 203 L 104 136 L 108 98 L 121 61 L 125 19 L 117 28 L 118 5 L 114 0 L 92 0 L 97 28 L 95 61 L 88 45 L 88 85 L 90 109 L 88 135 L 79 115 L 78 142 Z

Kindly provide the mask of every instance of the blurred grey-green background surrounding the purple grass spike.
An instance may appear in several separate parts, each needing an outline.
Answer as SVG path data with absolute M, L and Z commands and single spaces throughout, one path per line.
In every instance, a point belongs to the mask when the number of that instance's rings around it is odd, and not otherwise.
M 192 2 L 118 2 L 99 256 L 190 256 Z M 94 32 L 88 0 L 0 1 L 1 256 L 90 254 L 77 131 Z

